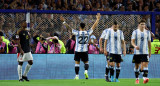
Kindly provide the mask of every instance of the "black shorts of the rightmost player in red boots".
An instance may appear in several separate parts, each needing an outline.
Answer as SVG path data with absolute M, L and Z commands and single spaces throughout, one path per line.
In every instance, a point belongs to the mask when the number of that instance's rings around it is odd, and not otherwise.
M 149 56 L 147 54 L 134 55 L 132 63 L 149 62 Z

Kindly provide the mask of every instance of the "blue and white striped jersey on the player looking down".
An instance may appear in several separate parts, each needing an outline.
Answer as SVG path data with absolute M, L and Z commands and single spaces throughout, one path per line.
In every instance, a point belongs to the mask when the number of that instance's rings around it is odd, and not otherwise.
M 105 39 L 107 42 L 109 40 L 109 53 L 122 54 L 121 41 L 124 40 L 124 35 L 121 30 L 116 32 L 113 29 L 108 30 Z

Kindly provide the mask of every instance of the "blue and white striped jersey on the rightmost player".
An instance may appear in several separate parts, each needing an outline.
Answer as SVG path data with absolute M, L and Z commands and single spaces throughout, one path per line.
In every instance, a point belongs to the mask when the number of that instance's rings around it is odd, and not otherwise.
M 134 54 L 148 54 L 148 41 L 151 41 L 150 31 L 134 30 L 131 39 L 135 39 L 135 45 L 140 48 L 139 50 L 134 48 Z

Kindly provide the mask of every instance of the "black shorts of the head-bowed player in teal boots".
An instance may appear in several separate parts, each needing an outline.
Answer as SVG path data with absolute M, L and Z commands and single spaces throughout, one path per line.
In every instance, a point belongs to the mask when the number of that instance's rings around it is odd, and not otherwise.
M 122 62 L 121 55 L 120 54 L 112 54 L 112 53 L 110 53 L 109 61 L 110 62 L 121 63 Z

